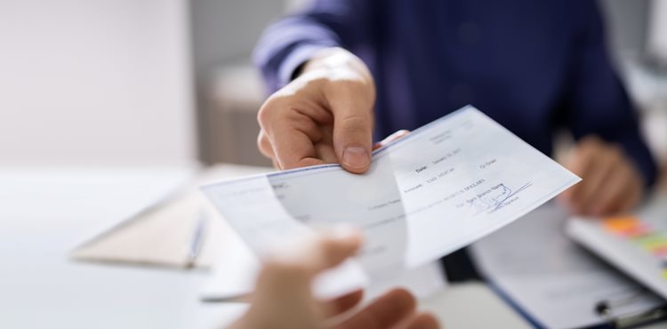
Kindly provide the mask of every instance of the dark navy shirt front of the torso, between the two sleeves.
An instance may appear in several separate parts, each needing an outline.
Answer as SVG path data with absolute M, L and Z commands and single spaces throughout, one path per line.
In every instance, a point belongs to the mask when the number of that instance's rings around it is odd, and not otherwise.
M 472 104 L 543 152 L 571 65 L 566 1 L 390 0 L 374 13 L 377 136 Z

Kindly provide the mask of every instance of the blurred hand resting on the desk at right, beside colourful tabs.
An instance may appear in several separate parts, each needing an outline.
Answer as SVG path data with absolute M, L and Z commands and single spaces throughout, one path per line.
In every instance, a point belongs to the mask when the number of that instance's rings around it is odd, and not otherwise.
M 565 166 L 583 179 L 559 197 L 574 213 L 623 213 L 641 200 L 644 184 L 631 160 L 622 148 L 598 137 L 580 140 Z

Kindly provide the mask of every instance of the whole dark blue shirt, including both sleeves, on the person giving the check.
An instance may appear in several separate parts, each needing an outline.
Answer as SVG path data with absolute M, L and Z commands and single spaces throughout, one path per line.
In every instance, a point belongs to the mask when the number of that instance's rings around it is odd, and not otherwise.
M 472 104 L 546 154 L 560 128 L 617 142 L 655 181 L 594 0 L 315 0 L 272 24 L 254 60 L 273 92 L 332 46 L 373 72 L 378 138 Z

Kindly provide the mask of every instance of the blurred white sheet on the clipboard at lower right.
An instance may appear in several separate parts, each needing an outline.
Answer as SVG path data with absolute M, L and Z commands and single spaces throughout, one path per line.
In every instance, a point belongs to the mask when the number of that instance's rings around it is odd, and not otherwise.
M 554 203 L 472 245 L 478 268 L 537 325 L 583 328 L 638 314 L 664 301 L 586 253 L 565 235 L 569 214 Z

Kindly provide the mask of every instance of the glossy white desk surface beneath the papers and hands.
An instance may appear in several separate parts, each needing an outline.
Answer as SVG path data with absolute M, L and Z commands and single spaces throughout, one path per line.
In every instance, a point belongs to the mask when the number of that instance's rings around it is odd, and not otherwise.
M 164 197 L 191 173 L 0 168 L 0 327 L 211 329 L 239 314 L 243 305 L 200 303 L 203 271 L 68 260 L 74 246 Z M 528 327 L 481 284 L 451 286 L 422 307 L 448 329 Z

